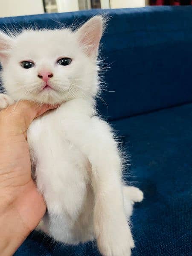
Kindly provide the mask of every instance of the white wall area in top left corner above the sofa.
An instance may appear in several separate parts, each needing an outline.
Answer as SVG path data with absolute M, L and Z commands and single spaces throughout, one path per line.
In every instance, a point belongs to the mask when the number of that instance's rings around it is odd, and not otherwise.
M 0 0 L 0 17 L 44 13 L 41 0 Z

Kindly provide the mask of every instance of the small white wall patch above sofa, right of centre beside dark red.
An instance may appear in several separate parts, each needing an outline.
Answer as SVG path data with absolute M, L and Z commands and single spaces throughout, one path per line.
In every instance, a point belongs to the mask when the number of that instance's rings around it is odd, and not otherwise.
M 145 0 L 111 0 L 111 8 L 144 7 Z

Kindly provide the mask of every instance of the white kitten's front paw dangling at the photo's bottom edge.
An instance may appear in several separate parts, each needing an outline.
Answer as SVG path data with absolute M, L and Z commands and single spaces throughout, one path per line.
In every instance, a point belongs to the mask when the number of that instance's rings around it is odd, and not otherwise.
M 131 256 L 131 248 L 134 248 L 128 224 L 113 233 L 100 233 L 97 244 L 103 256 Z

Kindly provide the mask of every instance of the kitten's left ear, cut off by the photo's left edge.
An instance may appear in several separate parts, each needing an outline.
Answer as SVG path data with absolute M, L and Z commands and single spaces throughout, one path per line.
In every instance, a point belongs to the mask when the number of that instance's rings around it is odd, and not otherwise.
M 12 49 L 13 39 L 0 31 L 0 62 L 3 64 L 8 58 L 9 51 Z

